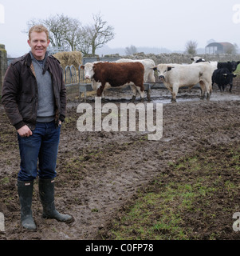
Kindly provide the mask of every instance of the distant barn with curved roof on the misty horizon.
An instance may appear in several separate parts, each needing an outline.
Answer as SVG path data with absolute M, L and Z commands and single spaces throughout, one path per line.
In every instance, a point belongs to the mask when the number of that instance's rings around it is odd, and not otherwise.
M 230 42 L 211 42 L 205 47 L 205 54 L 229 54 L 235 49 Z

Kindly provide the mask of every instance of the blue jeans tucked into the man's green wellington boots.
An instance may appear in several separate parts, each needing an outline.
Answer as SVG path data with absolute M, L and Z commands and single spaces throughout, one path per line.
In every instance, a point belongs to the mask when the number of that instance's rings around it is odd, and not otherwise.
M 21 157 L 21 170 L 18 180 L 33 181 L 37 178 L 55 178 L 57 175 L 57 151 L 60 138 L 60 126 L 55 122 L 37 122 L 33 135 L 21 137 L 18 145 Z M 38 169 L 37 170 L 37 159 Z

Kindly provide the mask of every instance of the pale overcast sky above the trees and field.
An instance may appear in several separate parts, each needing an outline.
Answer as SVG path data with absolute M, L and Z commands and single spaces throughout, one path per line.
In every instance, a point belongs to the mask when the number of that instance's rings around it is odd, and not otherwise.
M 111 48 L 148 46 L 184 50 L 189 40 L 204 48 L 207 41 L 240 47 L 240 0 L 0 0 L 0 43 L 11 57 L 26 54 L 26 22 L 65 14 L 83 25 L 102 16 L 114 27 Z

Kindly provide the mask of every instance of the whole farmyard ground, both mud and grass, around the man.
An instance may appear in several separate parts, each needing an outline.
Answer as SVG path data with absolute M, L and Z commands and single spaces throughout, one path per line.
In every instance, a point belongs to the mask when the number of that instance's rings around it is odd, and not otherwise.
M 163 102 L 163 138 L 146 132 L 80 132 L 77 106 L 68 103 L 61 130 L 55 199 L 73 214 L 67 225 L 41 218 L 37 180 L 33 193 L 36 232 L 22 230 L 17 192 L 16 131 L 0 105 L 0 212 L 7 240 L 239 239 L 233 214 L 240 212 L 240 78 L 233 91 L 214 87 L 210 102 L 199 90 L 180 90 Z M 110 102 L 131 95 L 106 93 Z M 94 98 L 89 98 L 94 108 Z

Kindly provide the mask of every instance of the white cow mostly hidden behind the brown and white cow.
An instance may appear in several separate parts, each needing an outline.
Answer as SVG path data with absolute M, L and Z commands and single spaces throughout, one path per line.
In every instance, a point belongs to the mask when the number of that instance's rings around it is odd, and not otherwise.
M 154 71 L 152 68 L 155 66 L 155 62 L 150 59 L 138 59 L 133 60 L 130 58 L 120 58 L 116 61 L 116 63 L 122 63 L 122 62 L 140 62 L 144 65 L 144 82 L 155 82 L 155 76 Z

